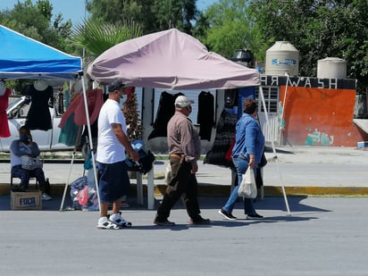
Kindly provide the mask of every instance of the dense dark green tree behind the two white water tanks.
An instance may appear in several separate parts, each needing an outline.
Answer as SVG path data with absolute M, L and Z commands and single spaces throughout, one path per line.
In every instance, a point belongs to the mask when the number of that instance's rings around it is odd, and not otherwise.
M 297 47 L 300 75 L 315 76 L 318 60 L 340 57 L 347 61 L 347 78 L 357 79 L 359 90 L 368 85 L 365 0 L 252 0 L 249 7 L 263 45 L 288 40 Z

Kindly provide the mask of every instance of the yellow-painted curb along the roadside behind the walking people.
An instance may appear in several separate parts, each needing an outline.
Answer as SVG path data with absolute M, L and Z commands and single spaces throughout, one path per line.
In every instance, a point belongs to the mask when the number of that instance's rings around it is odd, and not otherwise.
M 32 188 L 33 185 L 29 185 Z M 63 195 L 65 184 L 52 184 L 51 196 Z M 155 197 L 163 197 L 166 185 L 155 185 Z M 69 190 L 67 197 L 69 197 Z M 146 185 L 143 186 L 143 192 L 146 196 Z M 318 197 L 368 197 L 368 187 L 285 187 L 286 195 L 289 197 L 298 196 L 318 196 Z M 0 196 L 10 195 L 10 185 L 0 184 Z M 130 197 L 137 195 L 136 184 L 130 185 Z M 223 185 L 199 185 L 198 195 L 201 197 L 228 197 L 230 195 L 230 186 Z M 283 196 L 280 186 L 264 186 L 264 197 Z

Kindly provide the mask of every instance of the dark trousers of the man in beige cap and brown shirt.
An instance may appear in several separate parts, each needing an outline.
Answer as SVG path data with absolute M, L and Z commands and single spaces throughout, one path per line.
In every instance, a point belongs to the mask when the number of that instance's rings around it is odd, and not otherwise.
M 180 158 L 171 157 L 172 180 L 166 188 L 163 201 L 157 209 L 157 220 L 164 220 L 170 216 L 173 205 L 181 197 L 187 209 L 187 213 L 192 220 L 197 220 L 201 216 L 197 199 L 197 179 L 196 174 L 191 173 L 190 163 L 180 163 Z

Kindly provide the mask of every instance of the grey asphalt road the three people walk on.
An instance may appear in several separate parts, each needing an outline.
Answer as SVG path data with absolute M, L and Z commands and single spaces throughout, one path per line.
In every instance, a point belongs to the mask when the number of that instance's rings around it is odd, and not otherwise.
M 368 201 L 351 197 L 281 197 L 255 202 L 263 221 L 246 221 L 242 204 L 223 221 L 226 197 L 200 197 L 209 226 L 153 224 L 155 210 L 130 205 L 128 230 L 96 230 L 97 212 L 59 212 L 60 197 L 43 211 L 9 211 L 0 197 L 1 275 L 367 275 Z

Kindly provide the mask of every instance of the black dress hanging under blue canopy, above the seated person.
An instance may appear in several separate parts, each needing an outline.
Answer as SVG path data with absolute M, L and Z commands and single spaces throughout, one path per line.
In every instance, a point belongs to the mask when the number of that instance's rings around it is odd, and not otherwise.
M 38 91 L 34 85 L 30 85 L 27 91 L 30 97 L 30 107 L 26 118 L 26 127 L 29 130 L 51 130 L 53 123 L 49 107 L 54 107 L 54 90 L 48 86 L 43 91 Z

